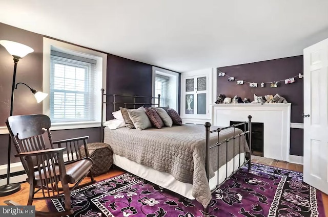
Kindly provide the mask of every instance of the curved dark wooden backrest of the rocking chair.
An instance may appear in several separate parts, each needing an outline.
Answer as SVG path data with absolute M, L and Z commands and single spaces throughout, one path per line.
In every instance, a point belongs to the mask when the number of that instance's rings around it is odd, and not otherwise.
M 49 130 L 51 122 L 47 115 L 32 114 L 10 116 L 7 118 L 6 125 L 18 154 L 46 149 L 46 143 L 43 137 L 45 131 L 48 132 L 49 142 L 52 146 L 52 137 Z M 29 167 L 27 166 L 27 161 L 24 158 L 20 160 L 28 174 Z M 33 164 L 36 166 L 36 161 L 33 161 Z

